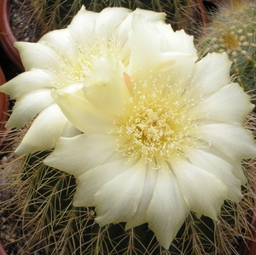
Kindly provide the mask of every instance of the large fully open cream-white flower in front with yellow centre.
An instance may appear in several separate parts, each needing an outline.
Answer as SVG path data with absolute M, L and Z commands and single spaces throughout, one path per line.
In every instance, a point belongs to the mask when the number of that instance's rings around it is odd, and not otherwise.
M 129 67 L 102 57 L 84 86 L 53 92 L 83 134 L 61 137 L 44 163 L 76 177 L 74 206 L 96 206 L 97 223 L 148 223 L 168 248 L 189 211 L 217 220 L 224 200 L 241 200 L 253 105 L 226 54 L 195 62 L 183 31 L 133 22 Z

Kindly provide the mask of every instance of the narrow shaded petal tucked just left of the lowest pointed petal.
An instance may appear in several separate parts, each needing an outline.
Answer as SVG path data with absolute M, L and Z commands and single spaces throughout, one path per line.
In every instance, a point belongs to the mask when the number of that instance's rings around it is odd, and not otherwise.
M 148 206 L 154 194 L 154 185 L 157 179 L 157 170 L 153 165 L 147 165 L 147 172 L 143 187 L 143 194 L 137 206 L 137 212 L 125 224 L 125 229 L 131 229 L 147 222 Z

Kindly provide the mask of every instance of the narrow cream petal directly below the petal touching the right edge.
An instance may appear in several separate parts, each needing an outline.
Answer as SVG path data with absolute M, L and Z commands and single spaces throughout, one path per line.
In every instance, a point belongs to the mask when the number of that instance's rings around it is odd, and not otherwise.
M 190 152 L 189 161 L 192 165 L 212 173 L 218 180 L 224 183 L 228 188 L 228 200 L 236 203 L 240 202 L 242 198 L 241 181 L 235 177 L 232 165 L 224 161 L 224 159 L 208 154 L 200 149 L 193 149 Z

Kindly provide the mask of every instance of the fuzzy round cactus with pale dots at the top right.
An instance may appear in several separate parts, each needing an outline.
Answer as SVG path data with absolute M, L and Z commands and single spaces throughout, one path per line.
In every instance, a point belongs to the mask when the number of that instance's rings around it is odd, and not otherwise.
M 233 62 L 230 75 L 251 95 L 256 88 L 256 3 L 233 0 L 218 4 L 211 23 L 198 39 L 201 56 L 227 52 Z

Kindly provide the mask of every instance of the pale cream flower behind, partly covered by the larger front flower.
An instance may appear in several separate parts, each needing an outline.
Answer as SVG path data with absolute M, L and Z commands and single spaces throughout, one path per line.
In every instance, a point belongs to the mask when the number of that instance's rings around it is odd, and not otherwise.
M 49 32 L 38 43 L 15 43 L 26 72 L 4 84 L 0 91 L 16 99 L 7 128 L 21 128 L 33 120 L 17 154 L 54 147 L 59 136 L 78 134 L 50 96 L 51 90 L 83 84 L 94 61 L 112 56 L 125 66 L 130 61 L 127 34 L 133 14 L 164 22 L 166 14 L 137 9 L 107 8 L 101 13 L 84 7 L 66 29 Z

